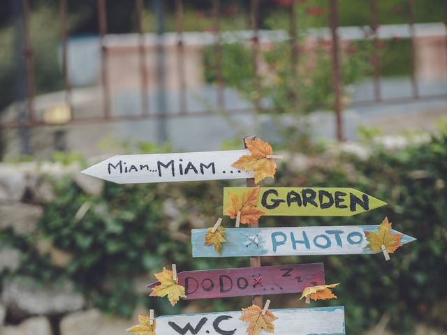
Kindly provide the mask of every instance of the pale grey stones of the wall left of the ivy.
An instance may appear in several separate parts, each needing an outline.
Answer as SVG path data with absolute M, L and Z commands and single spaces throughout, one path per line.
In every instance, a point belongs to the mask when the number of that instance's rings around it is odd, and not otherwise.
M 101 193 L 102 181 L 80 175 L 78 171 L 78 165 L 65 167 L 57 163 L 1 164 L 0 232 L 12 230 L 13 234 L 22 237 L 38 236 L 43 205 L 55 198 L 48 175 L 55 178 L 68 175 L 86 193 Z M 43 239 L 37 239 L 35 249 L 36 253 L 49 255 L 53 264 L 59 267 L 65 266 L 73 257 Z M 91 334 L 102 334 L 91 322 L 96 326 L 101 323 L 110 325 L 105 328 L 108 334 L 123 334 L 123 329 L 131 325 L 131 320 L 115 319 L 115 326 L 112 326 L 99 311 L 87 309 L 84 297 L 76 292 L 71 281 L 43 285 L 36 278 L 14 276 L 23 256 L 22 251 L 0 242 L 0 274 L 10 274 L 1 277 L 5 278 L 0 294 L 1 335 L 80 334 L 73 324 L 73 320 L 79 318 L 85 319 L 82 324 L 89 326 Z M 90 333 L 84 331 L 83 334 Z

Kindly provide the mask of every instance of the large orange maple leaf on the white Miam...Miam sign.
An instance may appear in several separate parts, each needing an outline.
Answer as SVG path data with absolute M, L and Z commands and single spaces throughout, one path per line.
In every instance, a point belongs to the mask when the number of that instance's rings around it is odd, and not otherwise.
M 247 144 L 247 149 L 249 149 L 251 155 L 240 157 L 231 166 L 245 171 L 254 171 L 256 184 L 265 177 L 273 178 L 274 172 L 277 170 L 277 163 L 272 158 L 267 158 L 267 156 L 273 154 L 273 149 L 268 142 L 256 138 L 255 140 L 245 140 L 245 144 Z

